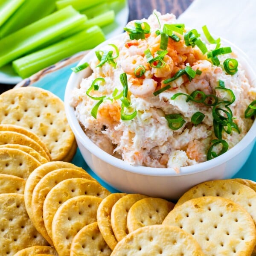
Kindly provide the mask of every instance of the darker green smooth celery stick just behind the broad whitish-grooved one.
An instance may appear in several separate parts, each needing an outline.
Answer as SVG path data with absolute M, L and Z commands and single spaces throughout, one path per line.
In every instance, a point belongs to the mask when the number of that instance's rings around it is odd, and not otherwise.
M 0 28 L 0 38 L 40 20 L 54 10 L 55 0 L 26 0 Z

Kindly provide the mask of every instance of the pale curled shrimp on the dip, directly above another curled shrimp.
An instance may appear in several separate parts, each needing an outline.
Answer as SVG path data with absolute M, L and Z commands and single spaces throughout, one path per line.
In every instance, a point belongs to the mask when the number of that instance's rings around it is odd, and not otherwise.
M 148 69 L 148 63 L 144 60 L 144 58 L 141 55 L 130 56 L 121 63 L 122 70 L 129 75 L 134 75 L 134 70 L 139 65 L 143 65 L 145 69 Z

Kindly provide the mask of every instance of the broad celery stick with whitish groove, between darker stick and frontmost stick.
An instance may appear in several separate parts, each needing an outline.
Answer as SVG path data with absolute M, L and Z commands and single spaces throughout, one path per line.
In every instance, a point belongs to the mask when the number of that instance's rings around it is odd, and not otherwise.
M 75 29 L 86 20 L 72 6 L 44 17 L 0 40 L 0 67 Z

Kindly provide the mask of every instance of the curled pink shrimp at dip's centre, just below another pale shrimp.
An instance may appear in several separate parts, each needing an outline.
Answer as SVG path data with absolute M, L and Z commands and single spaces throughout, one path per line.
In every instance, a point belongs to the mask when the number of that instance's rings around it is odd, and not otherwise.
M 139 80 L 141 81 L 141 80 Z M 142 84 L 139 83 L 132 83 L 129 90 L 134 96 L 145 97 L 152 93 L 157 87 L 157 81 L 151 78 L 143 79 Z

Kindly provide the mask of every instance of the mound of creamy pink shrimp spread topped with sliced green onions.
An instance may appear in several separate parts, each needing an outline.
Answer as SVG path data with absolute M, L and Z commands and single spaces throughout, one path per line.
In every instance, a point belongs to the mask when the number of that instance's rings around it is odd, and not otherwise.
M 71 105 L 93 143 L 134 166 L 179 168 L 244 137 L 256 88 L 230 47 L 206 27 L 201 39 L 159 12 L 125 31 L 95 52 L 91 75 L 73 90 Z

